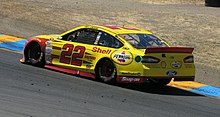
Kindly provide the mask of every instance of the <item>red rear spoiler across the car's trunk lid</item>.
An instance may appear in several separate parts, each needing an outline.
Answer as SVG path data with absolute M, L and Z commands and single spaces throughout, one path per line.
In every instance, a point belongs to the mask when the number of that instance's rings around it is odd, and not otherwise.
M 192 54 L 194 48 L 188 47 L 158 47 L 158 48 L 147 48 L 145 54 L 147 53 L 190 53 Z

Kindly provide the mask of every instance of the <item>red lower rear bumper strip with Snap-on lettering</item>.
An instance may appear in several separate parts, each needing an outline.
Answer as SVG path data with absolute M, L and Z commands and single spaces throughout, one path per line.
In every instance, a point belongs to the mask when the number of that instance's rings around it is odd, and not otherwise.
M 174 79 L 174 81 L 194 81 L 195 76 L 175 76 L 175 77 L 146 77 L 146 76 L 118 76 L 118 83 L 147 83 L 151 79 L 160 80 L 160 79 Z

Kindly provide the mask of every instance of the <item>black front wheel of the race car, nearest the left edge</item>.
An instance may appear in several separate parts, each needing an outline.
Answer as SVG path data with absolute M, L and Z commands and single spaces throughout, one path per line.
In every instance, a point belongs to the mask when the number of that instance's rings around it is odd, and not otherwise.
M 45 66 L 44 52 L 41 50 L 39 44 L 34 43 L 28 46 L 26 51 L 26 62 L 37 67 Z

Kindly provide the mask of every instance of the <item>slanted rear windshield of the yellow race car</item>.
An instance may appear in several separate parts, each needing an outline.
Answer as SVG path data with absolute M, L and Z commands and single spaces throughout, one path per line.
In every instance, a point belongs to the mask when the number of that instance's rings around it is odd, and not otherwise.
M 164 41 L 152 34 L 120 34 L 127 42 L 137 49 L 150 47 L 167 47 Z

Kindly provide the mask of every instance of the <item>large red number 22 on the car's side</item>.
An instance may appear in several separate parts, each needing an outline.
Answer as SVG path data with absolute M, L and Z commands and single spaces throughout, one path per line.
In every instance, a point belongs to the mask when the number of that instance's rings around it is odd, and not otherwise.
M 83 58 L 86 48 L 83 46 L 76 46 L 74 49 L 73 48 L 74 45 L 72 44 L 65 44 L 63 46 L 62 49 L 66 51 L 61 52 L 60 62 L 65 64 L 81 66 L 82 60 L 80 59 Z

